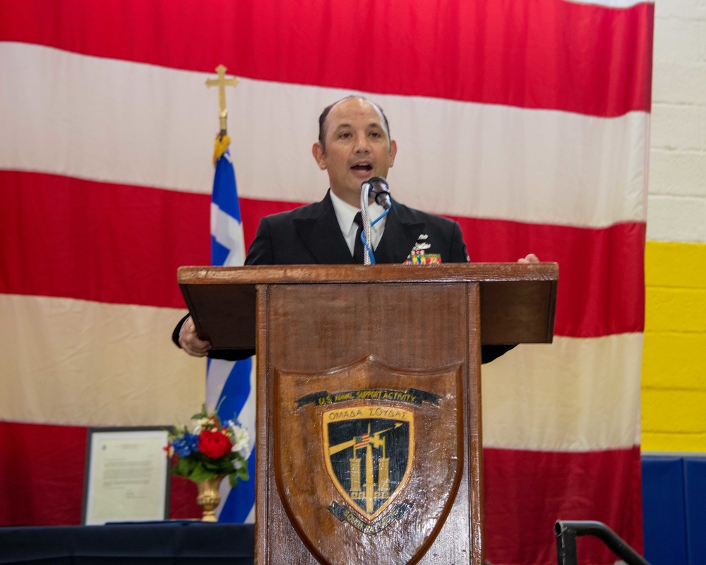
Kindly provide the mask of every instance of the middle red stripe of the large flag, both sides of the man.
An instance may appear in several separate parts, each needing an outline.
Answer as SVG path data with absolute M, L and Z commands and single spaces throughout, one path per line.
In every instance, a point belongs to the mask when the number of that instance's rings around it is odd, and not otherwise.
M 208 195 L 0 171 L 0 199 L 0 292 L 180 308 L 177 268 L 209 263 Z M 295 206 L 241 199 L 246 246 L 259 218 Z M 456 219 L 473 261 L 532 252 L 559 263 L 556 335 L 642 331 L 643 223 Z

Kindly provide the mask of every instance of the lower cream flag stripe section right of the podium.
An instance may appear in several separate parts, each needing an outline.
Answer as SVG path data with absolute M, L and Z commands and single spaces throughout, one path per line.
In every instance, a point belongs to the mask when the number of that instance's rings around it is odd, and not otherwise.
M 642 333 L 518 345 L 483 366 L 484 446 L 592 451 L 639 445 L 641 364 Z

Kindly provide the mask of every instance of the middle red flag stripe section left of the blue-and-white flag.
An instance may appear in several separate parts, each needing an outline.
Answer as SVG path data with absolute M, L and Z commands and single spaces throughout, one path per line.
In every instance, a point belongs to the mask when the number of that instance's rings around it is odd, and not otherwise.
M 207 195 L 0 171 L 0 201 L 0 292 L 179 308 L 210 263 Z

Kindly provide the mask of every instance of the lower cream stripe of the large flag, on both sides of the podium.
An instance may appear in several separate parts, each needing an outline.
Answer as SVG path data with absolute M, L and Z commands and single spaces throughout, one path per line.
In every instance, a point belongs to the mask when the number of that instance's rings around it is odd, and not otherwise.
M 17 352 L 4 360 L 3 374 L 13 379 L 3 380 L 0 414 L 18 422 L 96 426 L 187 422 L 194 399 L 203 398 L 205 371 L 203 359 L 184 355 L 166 337 L 180 314 L 0 295 L 0 339 Z M 484 365 L 486 446 L 556 451 L 633 446 L 641 348 L 642 334 L 554 338 L 552 345 L 520 345 Z M 45 361 L 55 358 L 61 362 Z M 621 362 L 604 364 L 613 358 Z M 254 391 L 254 369 L 250 379 Z M 140 421 L 140 415 L 150 421 Z M 254 439 L 254 404 L 247 403 L 239 419 Z

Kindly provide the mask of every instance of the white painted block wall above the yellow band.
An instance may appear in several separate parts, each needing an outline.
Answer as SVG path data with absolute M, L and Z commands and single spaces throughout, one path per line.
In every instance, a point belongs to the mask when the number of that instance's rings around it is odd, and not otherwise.
M 706 242 L 706 0 L 657 0 L 647 239 Z

